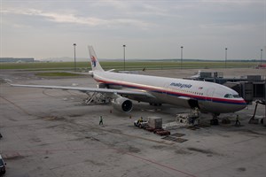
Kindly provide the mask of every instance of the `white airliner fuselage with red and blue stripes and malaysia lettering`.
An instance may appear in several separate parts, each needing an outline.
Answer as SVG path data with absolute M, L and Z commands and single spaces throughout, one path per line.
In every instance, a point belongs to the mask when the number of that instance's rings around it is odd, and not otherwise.
M 130 97 L 137 101 L 199 107 L 201 112 L 216 114 L 237 112 L 246 107 L 245 100 L 239 97 L 236 91 L 207 81 L 97 71 L 93 72 L 93 77 L 107 88 L 137 89 L 155 97 L 155 99 Z

